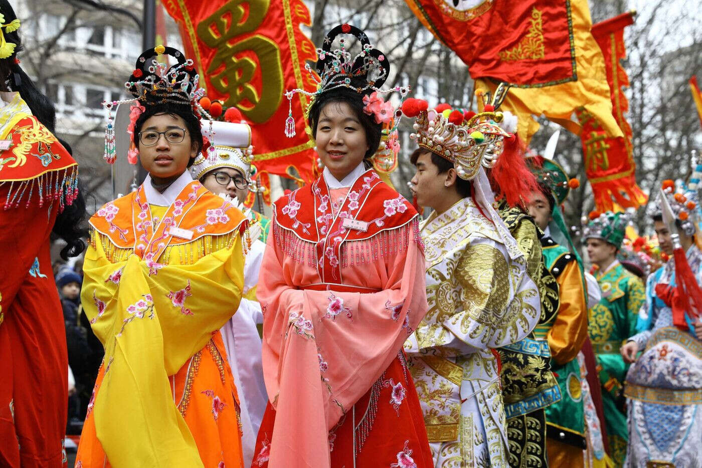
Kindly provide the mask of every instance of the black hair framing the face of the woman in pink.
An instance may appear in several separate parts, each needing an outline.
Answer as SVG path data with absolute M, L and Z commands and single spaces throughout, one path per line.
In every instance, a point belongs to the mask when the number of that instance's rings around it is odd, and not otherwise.
M 364 86 L 365 84 L 366 83 L 364 81 L 351 81 L 351 86 Z M 372 91 L 373 90 L 366 91 L 366 94 L 370 95 Z M 324 107 L 331 103 L 340 104 L 345 102 L 347 105 L 349 105 L 349 107 L 351 107 L 354 115 L 366 132 L 368 151 L 366 151 L 366 154 L 363 157 L 366 161 L 371 159 L 373 154 L 376 154 L 376 151 L 378 151 L 380 136 L 383 133 L 383 126 L 380 123 L 376 123 L 374 116 L 363 112 L 363 97 L 364 94 L 357 93 L 355 89 L 347 88 L 345 86 L 331 89 L 317 96 L 310 107 L 310 114 L 307 116 L 307 122 L 309 123 L 310 128 L 312 128 L 312 136 L 314 137 L 314 135 L 317 135 L 319 116 L 322 114 Z

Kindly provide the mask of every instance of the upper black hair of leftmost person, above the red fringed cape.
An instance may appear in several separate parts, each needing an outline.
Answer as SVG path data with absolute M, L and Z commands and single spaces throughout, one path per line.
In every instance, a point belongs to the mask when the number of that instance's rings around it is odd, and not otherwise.
M 5 24 L 17 19 L 12 5 L 7 0 L 0 0 L 0 13 L 4 15 Z M 20 28 L 21 29 L 21 28 Z M 6 88 L 9 83 L 11 91 L 18 91 L 20 97 L 27 103 L 32 115 L 37 117 L 51 133 L 55 133 L 56 109 L 49 98 L 34 86 L 34 81 L 27 76 L 19 63 L 15 63 L 17 54 L 23 50 L 20 40 L 20 30 L 4 32 L 5 40 L 15 44 L 15 51 L 8 58 L 0 59 L 0 87 Z

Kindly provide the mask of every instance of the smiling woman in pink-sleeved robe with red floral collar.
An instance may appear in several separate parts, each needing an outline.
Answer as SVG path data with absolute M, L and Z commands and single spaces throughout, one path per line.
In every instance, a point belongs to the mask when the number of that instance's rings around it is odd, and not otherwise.
M 432 466 L 402 352 L 427 311 L 419 217 L 369 168 L 386 105 L 355 76 L 310 108 L 323 175 L 274 203 L 253 467 Z

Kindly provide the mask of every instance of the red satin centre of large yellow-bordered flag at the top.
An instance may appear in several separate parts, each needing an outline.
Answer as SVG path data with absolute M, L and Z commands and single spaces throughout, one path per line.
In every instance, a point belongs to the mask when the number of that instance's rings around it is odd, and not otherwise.
M 405 0 L 470 76 L 522 88 L 576 81 L 569 0 Z

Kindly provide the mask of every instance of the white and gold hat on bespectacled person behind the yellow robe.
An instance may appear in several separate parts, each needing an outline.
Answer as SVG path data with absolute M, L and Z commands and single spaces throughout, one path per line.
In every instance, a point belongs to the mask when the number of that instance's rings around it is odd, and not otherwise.
M 202 121 L 203 127 L 209 121 Z M 214 151 L 201 152 L 190 166 L 192 178 L 197 180 L 216 168 L 232 168 L 241 171 L 247 181 L 251 181 L 251 127 L 248 123 L 212 122 L 215 133 Z

